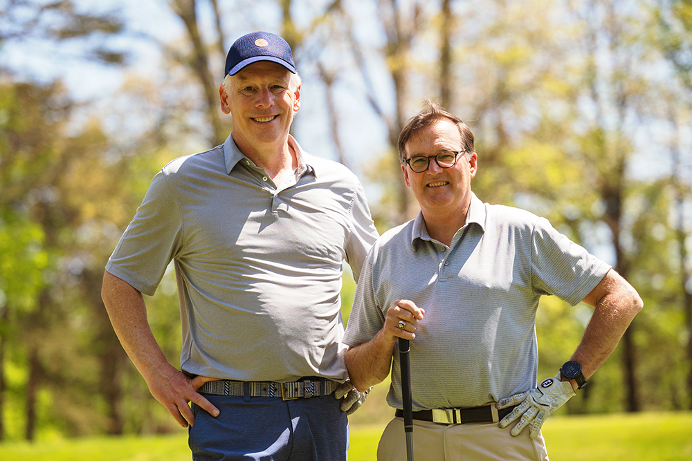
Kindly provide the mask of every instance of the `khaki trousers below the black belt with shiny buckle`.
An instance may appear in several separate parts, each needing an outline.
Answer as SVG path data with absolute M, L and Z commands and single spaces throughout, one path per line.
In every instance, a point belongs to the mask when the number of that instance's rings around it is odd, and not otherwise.
M 529 438 L 529 429 L 512 437 L 511 426 L 498 423 L 436 424 L 413 422 L 415 461 L 548 461 L 543 435 Z M 406 461 L 403 418 L 395 417 L 382 433 L 378 461 Z

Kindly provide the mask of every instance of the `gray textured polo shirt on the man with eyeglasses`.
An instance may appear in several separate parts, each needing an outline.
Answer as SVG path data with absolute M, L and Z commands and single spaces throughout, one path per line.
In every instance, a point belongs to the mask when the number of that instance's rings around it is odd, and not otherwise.
M 410 299 L 426 312 L 411 341 L 413 409 L 496 402 L 536 387 L 541 295 L 576 305 L 608 270 L 545 218 L 473 195 L 450 247 L 428 236 L 421 214 L 379 238 L 344 341 L 369 341 L 394 301 Z M 398 344 L 394 357 L 387 401 L 402 408 Z

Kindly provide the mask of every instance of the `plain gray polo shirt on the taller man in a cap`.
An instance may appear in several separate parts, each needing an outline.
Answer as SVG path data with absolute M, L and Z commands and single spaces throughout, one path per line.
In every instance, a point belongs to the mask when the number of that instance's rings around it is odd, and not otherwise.
M 347 375 L 338 354 L 341 265 L 357 280 L 377 232 L 356 176 L 289 144 L 300 167 L 280 185 L 231 136 L 173 160 L 107 263 L 154 294 L 174 261 L 189 373 L 277 382 Z

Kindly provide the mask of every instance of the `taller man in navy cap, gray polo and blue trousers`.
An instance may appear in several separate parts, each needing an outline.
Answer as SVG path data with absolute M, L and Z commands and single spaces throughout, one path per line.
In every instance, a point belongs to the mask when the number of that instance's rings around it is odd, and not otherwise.
M 341 267 L 357 281 L 377 237 L 363 186 L 289 134 L 300 77 L 281 37 L 237 39 L 219 95 L 233 132 L 154 176 L 106 265 L 104 304 L 152 395 L 189 424 L 193 460 L 345 460 L 364 397 L 346 381 Z M 180 370 L 143 299 L 171 261 Z

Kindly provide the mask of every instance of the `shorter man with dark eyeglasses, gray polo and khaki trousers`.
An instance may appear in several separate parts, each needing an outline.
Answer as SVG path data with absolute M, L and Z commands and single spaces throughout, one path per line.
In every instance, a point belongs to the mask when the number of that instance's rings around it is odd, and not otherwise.
M 392 368 L 387 401 L 397 412 L 377 459 L 407 458 L 399 361 L 392 366 L 404 338 L 415 459 L 547 460 L 545 418 L 586 386 L 641 299 L 544 218 L 482 203 L 471 191 L 473 133 L 455 115 L 428 102 L 401 132 L 399 153 L 421 212 L 372 247 L 344 337 L 359 390 Z M 595 309 L 572 357 L 536 386 L 536 309 L 544 294 Z

